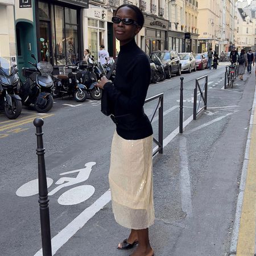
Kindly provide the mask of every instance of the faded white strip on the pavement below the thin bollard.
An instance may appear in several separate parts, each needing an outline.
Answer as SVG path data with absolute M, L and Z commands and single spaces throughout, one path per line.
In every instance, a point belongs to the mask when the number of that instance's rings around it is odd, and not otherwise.
M 192 216 L 192 197 L 190 176 L 188 171 L 187 139 L 180 137 L 180 191 L 181 209 L 187 213 L 187 217 Z

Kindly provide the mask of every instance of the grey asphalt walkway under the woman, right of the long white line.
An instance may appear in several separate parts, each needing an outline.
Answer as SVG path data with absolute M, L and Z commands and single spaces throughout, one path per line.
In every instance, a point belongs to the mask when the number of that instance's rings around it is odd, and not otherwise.
M 255 228 L 255 203 L 245 221 L 243 215 L 251 205 L 243 207 L 238 246 L 235 239 L 238 230 L 233 230 L 235 213 L 236 220 L 240 220 L 242 193 L 239 196 L 238 193 L 243 190 L 240 186 L 245 177 L 245 147 L 248 133 L 250 135 L 248 127 L 255 89 L 254 75 L 245 75 L 245 79 L 236 81 L 233 89 L 209 90 L 208 110 L 189 123 L 182 135 L 172 139 L 164 147 L 163 155 L 154 158 L 156 220 L 150 228 L 150 241 L 156 256 L 229 255 L 231 241 L 235 245 L 233 253 L 237 247 L 237 255 L 253 255 L 244 248 L 249 246 L 247 225 L 251 230 Z M 191 108 L 184 111 L 192 113 Z M 253 130 L 250 141 L 255 135 Z M 250 164 L 251 158 L 253 155 L 250 155 L 249 167 L 254 164 Z M 247 179 L 255 181 L 251 173 L 248 169 Z M 250 200 L 246 195 L 245 192 L 244 204 Z M 255 191 L 248 195 L 254 195 L 255 199 Z M 235 221 L 235 225 L 239 223 Z M 115 249 L 128 232 L 115 223 L 109 203 L 56 255 L 128 256 L 133 250 Z M 251 249 L 254 250 L 254 245 Z

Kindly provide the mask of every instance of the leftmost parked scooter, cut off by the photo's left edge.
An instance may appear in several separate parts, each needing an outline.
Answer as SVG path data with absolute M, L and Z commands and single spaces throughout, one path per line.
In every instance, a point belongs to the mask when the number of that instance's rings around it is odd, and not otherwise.
M 0 57 L 0 109 L 9 119 L 16 119 L 22 112 L 22 101 L 17 95 L 20 90 L 18 71 L 16 65 L 11 67 L 10 58 Z

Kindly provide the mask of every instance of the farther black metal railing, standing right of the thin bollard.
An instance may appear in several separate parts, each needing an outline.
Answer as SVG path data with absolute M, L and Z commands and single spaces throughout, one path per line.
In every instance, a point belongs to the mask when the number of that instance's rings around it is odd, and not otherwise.
M 201 88 L 199 81 L 205 79 L 204 86 Z M 197 89 L 200 92 L 200 100 L 197 104 Z M 193 107 L 193 119 L 196 120 L 196 116 L 200 114 L 203 110 L 207 109 L 207 92 L 208 92 L 208 75 L 199 77 L 196 79 L 196 87 L 194 89 L 194 107 Z M 204 107 L 200 108 L 201 100 L 204 101 Z

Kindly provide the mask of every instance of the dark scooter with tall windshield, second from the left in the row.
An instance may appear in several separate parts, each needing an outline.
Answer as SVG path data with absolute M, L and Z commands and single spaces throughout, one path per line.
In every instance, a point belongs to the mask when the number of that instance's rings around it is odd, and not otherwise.
M 31 57 L 36 61 L 35 55 Z M 29 106 L 34 104 L 39 113 L 48 112 L 53 106 L 53 81 L 51 77 L 52 65 L 46 61 L 32 63 L 34 68 L 22 68 L 26 81 L 22 85 L 22 102 Z

